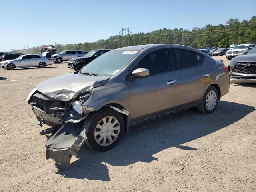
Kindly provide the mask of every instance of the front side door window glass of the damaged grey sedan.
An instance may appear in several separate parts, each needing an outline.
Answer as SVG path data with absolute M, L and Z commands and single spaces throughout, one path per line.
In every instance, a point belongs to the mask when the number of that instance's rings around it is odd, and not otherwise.
M 148 69 L 150 75 L 171 71 L 172 66 L 169 50 L 160 49 L 147 54 L 140 60 L 136 68 Z

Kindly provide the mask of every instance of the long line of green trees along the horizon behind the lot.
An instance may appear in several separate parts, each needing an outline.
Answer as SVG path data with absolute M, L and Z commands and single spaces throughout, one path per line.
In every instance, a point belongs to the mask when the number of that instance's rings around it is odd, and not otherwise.
M 245 44 L 256 42 L 256 16 L 250 20 L 239 21 L 230 19 L 226 25 L 218 26 L 206 25 L 203 28 L 194 27 L 187 29 L 160 29 L 147 33 L 137 33 L 129 35 L 115 35 L 96 42 L 86 42 L 78 44 L 56 44 L 57 52 L 63 50 L 84 50 L 89 52 L 94 49 L 116 49 L 125 46 L 142 44 L 181 44 L 194 48 L 206 48 L 218 46 L 227 48 L 230 44 Z M 14 50 L 24 54 L 34 54 L 40 52 L 40 46 L 29 49 Z

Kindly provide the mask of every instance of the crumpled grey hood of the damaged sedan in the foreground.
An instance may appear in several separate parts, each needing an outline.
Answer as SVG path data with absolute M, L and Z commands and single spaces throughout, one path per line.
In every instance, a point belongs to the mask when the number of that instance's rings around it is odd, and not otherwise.
M 106 84 L 109 78 L 110 76 L 69 73 L 43 81 L 36 86 L 36 89 L 56 100 L 69 101 L 85 90 Z

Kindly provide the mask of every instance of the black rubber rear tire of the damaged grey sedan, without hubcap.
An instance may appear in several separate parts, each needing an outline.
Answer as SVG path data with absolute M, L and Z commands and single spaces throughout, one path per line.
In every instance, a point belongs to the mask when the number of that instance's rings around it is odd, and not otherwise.
M 212 108 L 211 110 L 209 110 L 206 107 L 206 98 L 210 91 L 214 91 L 216 93 L 216 104 L 215 104 L 214 108 Z M 200 101 L 200 104 L 198 104 L 198 106 L 196 106 L 196 108 L 200 113 L 210 114 L 210 113 L 214 112 L 214 110 L 216 109 L 216 107 L 218 105 L 218 100 L 219 100 L 218 90 L 214 86 L 209 86 L 208 89 L 206 90 L 206 92 L 204 93 L 204 96 L 203 96 L 202 100 Z

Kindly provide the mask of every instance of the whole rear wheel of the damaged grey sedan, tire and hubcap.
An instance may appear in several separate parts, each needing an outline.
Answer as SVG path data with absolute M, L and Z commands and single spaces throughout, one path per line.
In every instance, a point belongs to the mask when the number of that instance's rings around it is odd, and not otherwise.
M 204 93 L 200 104 L 198 104 L 196 108 L 201 113 L 210 114 L 216 109 L 218 100 L 218 90 L 214 86 L 210 86 Z

